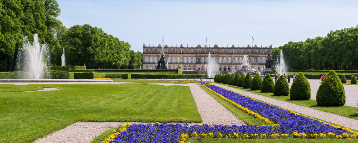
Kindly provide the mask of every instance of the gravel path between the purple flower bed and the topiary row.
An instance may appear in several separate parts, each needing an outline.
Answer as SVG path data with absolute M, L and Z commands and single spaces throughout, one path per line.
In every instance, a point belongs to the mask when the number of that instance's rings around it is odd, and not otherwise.
M 261 100 L 261 101 L 269 103 L 269 104 L 277 105 L 277 106 L 279 106 L 281 108 L 285 108 L 287 110 L 292 110 L 297 113 L 308 115 L 310 117 L 318 118 L 318 119 L 325 120 L 330 123 L 334 123 L 334 124 L 342 125 L 344 127 L 350 128 L 350 129 L 358 130 L 358 120 L 355 120 L 352 118 L 347 118 L 347 117 L 343 117 L 341 115 L 323 112 L 323 111 L 316 110 L 313 108 L 296 105 L 293 103 L 285 102 L 282 100 L 277 100 L 277 99 L 266 97 L 263 95 L 246 92 L 246 91 L 243 91 L 240 89 L 229 87 L 228 85 L 220 85 L 220 84 L 216 84 L 216 83 L 213 83 L 213 84 L 217 85 L 219 87 L 234 91 L 236 93 L 240 93 L 240 94 L 246 95 L 248 97 Z

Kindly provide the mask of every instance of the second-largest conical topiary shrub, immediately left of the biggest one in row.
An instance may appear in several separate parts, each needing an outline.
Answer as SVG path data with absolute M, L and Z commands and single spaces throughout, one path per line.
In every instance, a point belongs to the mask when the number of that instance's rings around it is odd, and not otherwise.
M 303 73 L 298 74 L 292 83 L 290 98 L 292 100 L 309 100 L 311 98 L 311 86 Z

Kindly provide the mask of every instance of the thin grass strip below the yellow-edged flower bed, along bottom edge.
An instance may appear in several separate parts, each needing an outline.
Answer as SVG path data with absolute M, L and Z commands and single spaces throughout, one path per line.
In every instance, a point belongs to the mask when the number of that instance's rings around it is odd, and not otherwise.
M 357 139 L 228 139 L 228 138 L 198 138 L 188 139 L 190 143 L 357 143 Z

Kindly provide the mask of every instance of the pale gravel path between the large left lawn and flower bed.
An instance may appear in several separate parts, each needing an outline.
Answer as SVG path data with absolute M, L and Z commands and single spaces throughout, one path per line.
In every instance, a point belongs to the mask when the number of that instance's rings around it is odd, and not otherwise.
M 200 116 L 205 124 L 245 125 L 236 118 L 236 115 L 226 109 L 216 99 L 206 93 L 199 85 L 189 84 L 159 84 L 164 86 L 178 85 L 189 86 Z M 123 122 L 77 122 L 62 130 L 59 130 L 46 138 L 38 139 L 34 143 L 88 143 L 93 138 L 107 129 L 123 126 Z M 183 124 L 183 123 L 182 123 Z M 198 123 L 189 123 L 198 124 Z

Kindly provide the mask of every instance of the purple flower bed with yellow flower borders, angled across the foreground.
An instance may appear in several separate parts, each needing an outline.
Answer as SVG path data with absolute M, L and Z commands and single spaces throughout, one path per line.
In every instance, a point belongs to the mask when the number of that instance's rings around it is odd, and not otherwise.
M 190 82 L 190 81 L 178 81 Z M 237 108 L 265 122 L 264 125 L 130 124 L 103 143 L 185 143 L 190 137 L 211 138 L 352 138 L 358 133 L 306 115 L 276 107 L 207 82 L 194 81 Z

